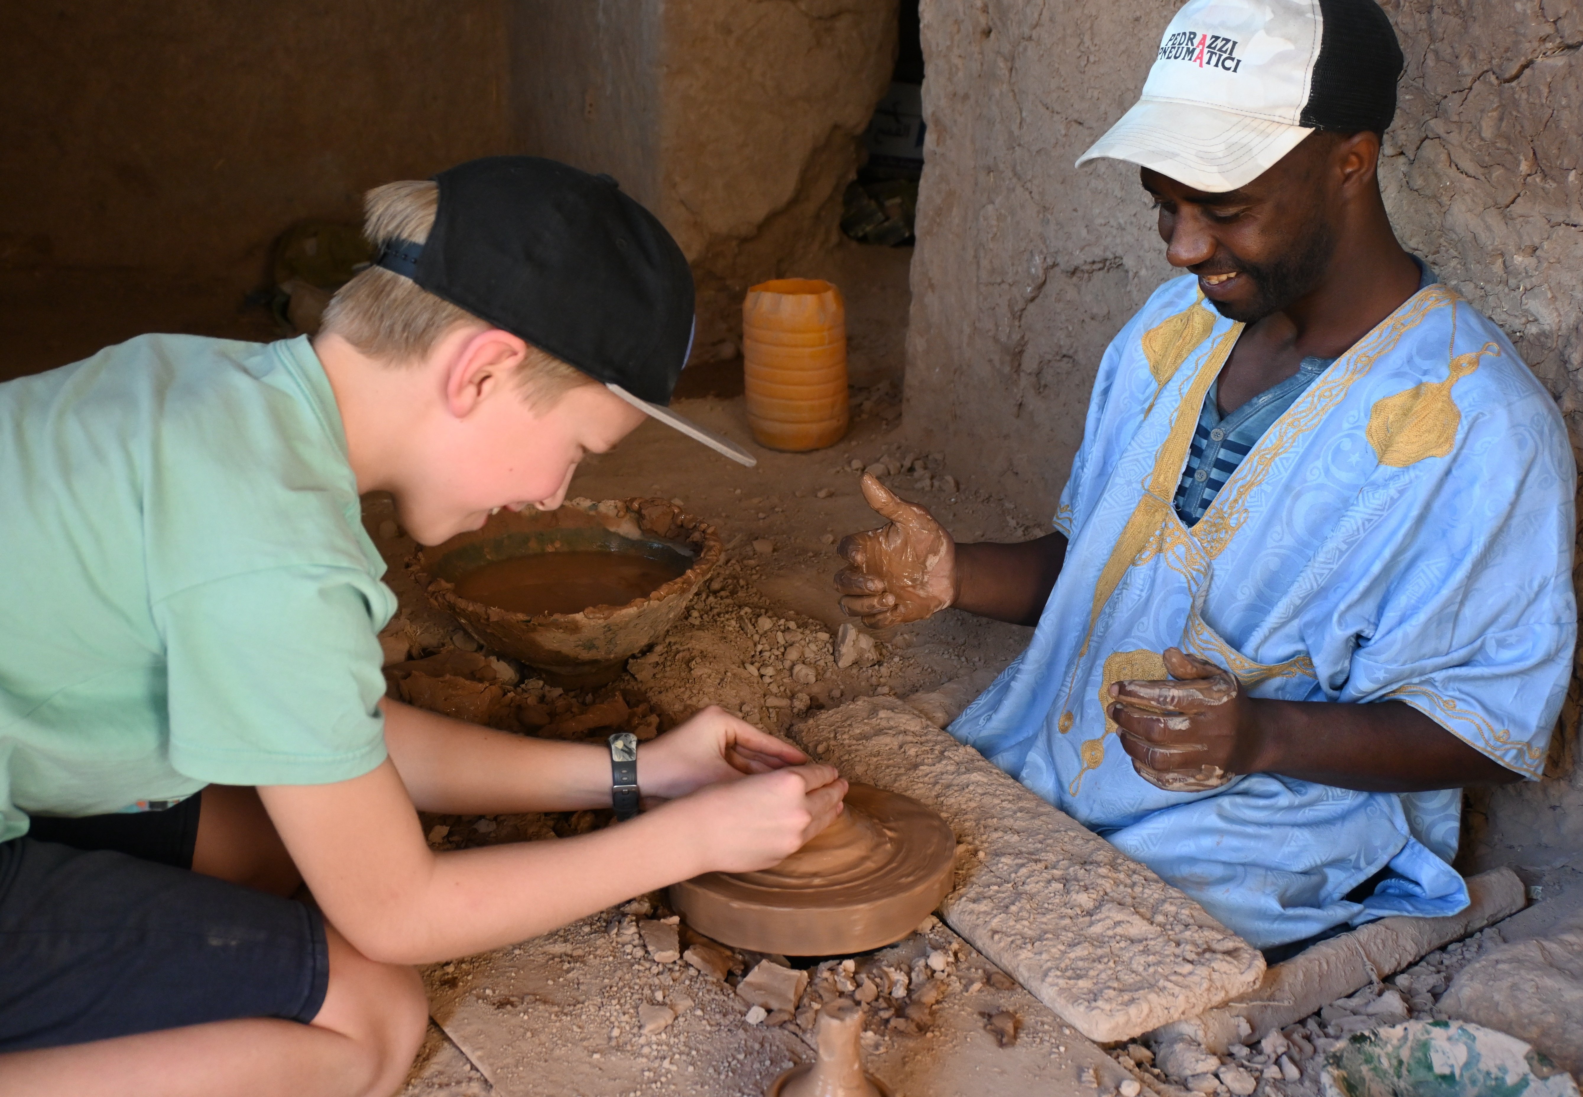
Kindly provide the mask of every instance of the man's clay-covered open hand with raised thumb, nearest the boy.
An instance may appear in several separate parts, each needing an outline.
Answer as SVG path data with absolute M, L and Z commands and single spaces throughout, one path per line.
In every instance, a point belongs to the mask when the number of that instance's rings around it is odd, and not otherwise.
M 841 611 L 871 628 L 923 621 L 956 600 L 956 541 L 934 516 L 898 499 L 871 475 L 863 497 L 890 521 L 841 538 L 837 552 L 852 565 L 836 573 Z

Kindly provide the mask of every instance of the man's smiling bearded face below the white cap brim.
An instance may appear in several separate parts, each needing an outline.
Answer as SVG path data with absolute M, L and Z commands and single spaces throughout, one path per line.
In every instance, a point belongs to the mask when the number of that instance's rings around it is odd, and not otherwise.
M 1198 275 L 1222 317 L 1254 323 L 1320 285 L 1336 249 L 1339 141 L 1314 133 L 1270 171 L 1224 193 L 1141 169 L 1167 260 Z

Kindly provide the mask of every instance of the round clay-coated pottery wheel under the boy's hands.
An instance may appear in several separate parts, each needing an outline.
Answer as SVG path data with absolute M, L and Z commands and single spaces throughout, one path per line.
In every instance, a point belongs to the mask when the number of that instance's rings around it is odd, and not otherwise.
M 701 934 L 784 956 L 839 956 L 901 940 L 951 891 L 956 836 L 917 799 L 871 785 L 780 864 L 708 872 L 670 890 Z

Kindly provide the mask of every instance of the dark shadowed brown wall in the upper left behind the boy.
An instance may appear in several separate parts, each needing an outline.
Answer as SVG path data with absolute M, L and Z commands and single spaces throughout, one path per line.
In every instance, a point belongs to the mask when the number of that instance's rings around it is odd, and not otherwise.
M 250 290 L 287 225 L 510 150 L 508 52 L 503 0 L 8 5 L 0 266 Z

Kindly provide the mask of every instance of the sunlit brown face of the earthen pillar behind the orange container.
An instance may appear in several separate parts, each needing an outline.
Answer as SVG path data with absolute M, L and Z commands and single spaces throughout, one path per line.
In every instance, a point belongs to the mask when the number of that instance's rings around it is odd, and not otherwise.
M 749 285 L 837 245 L 894 63 L 896 0 L 665 6 L 659 212 L 693 263 L 701 353 L 731 353 Z

